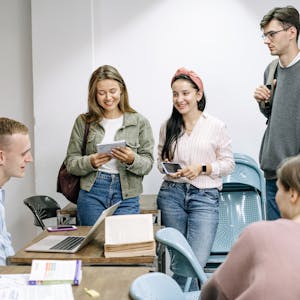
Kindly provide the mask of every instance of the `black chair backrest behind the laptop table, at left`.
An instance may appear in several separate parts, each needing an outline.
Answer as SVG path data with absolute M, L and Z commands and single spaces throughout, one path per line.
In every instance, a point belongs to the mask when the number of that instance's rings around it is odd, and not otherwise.
M 24 199 L 24 204 L 29 207 L 34 215 L 34 225 L 46 228 L 43 220 L 56 217 L 59 204 L 51 197 L 45 195 L 31 196 Z

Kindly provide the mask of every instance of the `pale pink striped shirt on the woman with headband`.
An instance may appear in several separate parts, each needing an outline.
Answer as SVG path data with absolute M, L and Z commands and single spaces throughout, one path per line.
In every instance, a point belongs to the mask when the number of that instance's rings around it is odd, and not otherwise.
M 158 144 L 158 168 L 161 168 L 161 152 L 166 137 L 166 122 L 160 128 Z M 218 188 L 222 189 L 222 176 L 230 174 L 234 169 L 234 158 L 231 149 L 231 138 L 226 125 L 217 118 L 202 113 L 190 135 L 184 133 L 177 143 L 174 153 L 174 162 L 182 167 L 193 164 L 211 164 L 210 175 L 198 175 L 195 179 L 175 179 L 168 175 L 165 180 L 174 182 L 186 182 L 199 189 Z

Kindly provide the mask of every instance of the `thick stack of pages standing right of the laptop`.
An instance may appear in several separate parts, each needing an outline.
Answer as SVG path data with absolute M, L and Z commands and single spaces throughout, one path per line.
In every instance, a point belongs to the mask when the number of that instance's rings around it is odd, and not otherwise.
M 106 217 L 104 255 L 155 256 L 152 214 Z

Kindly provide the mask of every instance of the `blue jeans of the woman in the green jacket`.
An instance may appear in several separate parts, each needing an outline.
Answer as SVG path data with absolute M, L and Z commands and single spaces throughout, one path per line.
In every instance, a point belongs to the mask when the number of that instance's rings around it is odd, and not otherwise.
M 77 218 L 81 226 L 92 226 L 102 211 L 121 201 L 114 215 L 138 214 L 139 197 L 123 200 L 120 176 L 98 172 L 89 192 L 80 190 L 77 200 Z

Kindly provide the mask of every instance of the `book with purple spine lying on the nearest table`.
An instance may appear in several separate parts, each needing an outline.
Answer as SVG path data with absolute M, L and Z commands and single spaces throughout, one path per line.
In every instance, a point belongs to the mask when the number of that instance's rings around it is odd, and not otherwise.
M 81 260 L 33 260 L 29 285 L 79 285 L 82 278 Z

